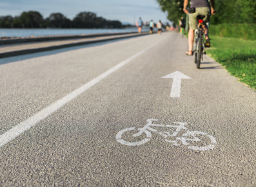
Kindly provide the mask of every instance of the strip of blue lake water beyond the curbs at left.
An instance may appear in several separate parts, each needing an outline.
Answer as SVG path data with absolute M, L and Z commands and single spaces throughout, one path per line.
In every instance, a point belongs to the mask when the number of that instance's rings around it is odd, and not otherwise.
M 30 28 L 0 28 L 0 37 L 34 37 L 48 35 L 86 35 L 92 33 L 122 33 L 137 31 L 137 28 L 126 29 L 30 29 Z M 149 31 L 149 28 L 143 28 Z

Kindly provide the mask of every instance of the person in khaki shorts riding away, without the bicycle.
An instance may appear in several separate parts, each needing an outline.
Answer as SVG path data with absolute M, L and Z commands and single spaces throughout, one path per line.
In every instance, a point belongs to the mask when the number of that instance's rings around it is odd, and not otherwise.
M 210 3 L 212 7 L 210 6 Z M 206 25 L 206 22 L 210 20 L 211 14 L 215 14 L 215 2 L 214 0 L 210 0 L 210 3 L 208 0 L 191 0 L 191 6 L 189 14 L 189 24 L 190 24 L 190 30 L 188 31 L 188 51 L 186 51 L 186 55 L 193 55 L 193 39 L 194 39 L 194 31 L 197 29 L 197 15 L 204 15 L 203 19 L 203 30 L 204 30 L 204 37 L 206 40 L 206 47 L 210 47 L 210 39 L 208 36 L 208 26 Z M 186 9 L 188 6 L 188 0 L 184 0 L 183 4 L 183 11 L 184 13 L 189 13 Z M 194 11 L 193 11 L 194 10 Z M 193 12 L 193 13 L 192 13 Z

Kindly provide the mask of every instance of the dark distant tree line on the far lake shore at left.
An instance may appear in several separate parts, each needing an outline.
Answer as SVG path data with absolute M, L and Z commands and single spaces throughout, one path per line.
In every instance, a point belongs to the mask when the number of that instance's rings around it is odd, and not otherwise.
M 73 20 L 62 13 L 52 13 L 46 19 L 35 11 L 23 12 L 20 16 L 0 17 L 0 28 L 124 28 L 120 21 L 97 17 L 93 12 L 80 12 Z

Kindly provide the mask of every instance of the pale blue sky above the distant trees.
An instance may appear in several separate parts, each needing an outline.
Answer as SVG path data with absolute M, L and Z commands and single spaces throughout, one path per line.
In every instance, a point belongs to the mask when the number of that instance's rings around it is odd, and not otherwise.
M 167 13 L 159 8 L 156 0 L 0 0 L 0 16 L 21 15 L 24 11 L 37 11 L 48 17 L 51 13 L 63 13 L 74 19 L 79 12 L 94 12 L 97 17 L 108 20 L 119 20 L 133 24 L 134 19 L 154 22 L 170 22 Z

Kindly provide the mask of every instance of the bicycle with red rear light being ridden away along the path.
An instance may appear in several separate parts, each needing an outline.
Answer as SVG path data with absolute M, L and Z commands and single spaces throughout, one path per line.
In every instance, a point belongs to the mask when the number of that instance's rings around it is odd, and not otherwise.
M 194 37 L 194 43 L 193 43 L 193 53 L 195 54 L 195 64 L 197 64 L 197 69 L 200 68 L 202 55 L 206 55 L 206 52 L 204 51 L 204 35 L 203 33 L 203 20 L 205 15 L 197 15 L 197 29 L 195 30 L 195 37 Z

